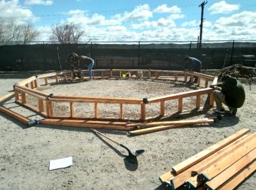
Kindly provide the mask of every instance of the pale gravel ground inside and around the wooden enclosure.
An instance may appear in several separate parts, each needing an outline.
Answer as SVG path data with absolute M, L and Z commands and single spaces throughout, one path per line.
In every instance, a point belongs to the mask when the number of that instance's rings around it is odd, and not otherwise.
M 0 95 L 10 93 L 13 84 L 21 80 L 0 79 Z M 78 86 L 82 90 L 77 91 Z M 54 94 L 61 91 L 73 95 L 144 98 L 187 91 L 195 89 L 195 86 L 166 81 L 95 80 L 41 88 Z M 0 189 L 164 189 L 159 182 L 159 176 L 171 170 L 175 164 L 240 129 L 248 128 L 255 132 L 256 85 L 244 84 L 244 88 L 244 106 L 237 111 L 236 116 L 225 116 L 216 124 L 180 127 L 134 137 L 127 136 L 124 131 L 99 129 L 133 151 L 145 150 L 143 155 L 133 161 L 125 158 L 127 151 L 124 148 L 96 136 L 90 129 L 40 124 L 27 128 L 0 113 Z M 14 99 L 10 99 L 3 104 L 24 116 L 40 120 L 40 116 L 14 104 L 13 101 Z M 211 109 L 191 111 L 195 108 L 191 106 L 193 101 L 186 100 L 186 111 L 171 116 L 170 120 L 215 116 Z M 166 109 L 170 109 L 166 110 L 167 114 L 172 115 L 172 107 L 177 107 L 177 104 L 166 106 Z M 151 114 L 156 112 L 154 107 L 150 110 Z M 61 111 L 65 109 L 62 108 Z M 130 116 L 131 113 L 126 114 Z M 101 114 L 104 116 L 106 113 Z M 49 171 L 50 160 L 69 156 L 73 157 L 70 168 Z M 238 189 L 255 189 L 255 185 L 254 173 Z

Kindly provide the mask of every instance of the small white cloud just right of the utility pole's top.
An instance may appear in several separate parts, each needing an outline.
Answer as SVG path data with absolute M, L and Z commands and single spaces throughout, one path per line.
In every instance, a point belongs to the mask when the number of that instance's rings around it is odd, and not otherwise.
M 230 13 L 239 10 L 240 4 L 227 4 L 226 1 L 214 3 L 208 8 L 211 14 Z

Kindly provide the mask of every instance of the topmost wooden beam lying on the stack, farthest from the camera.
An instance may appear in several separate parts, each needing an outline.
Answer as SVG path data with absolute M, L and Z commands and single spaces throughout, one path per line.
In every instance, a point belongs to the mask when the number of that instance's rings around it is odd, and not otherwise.
M 179 164 L 173 166 L 172 168 L 173 172 L 177 174 L 186 170 L 187 168 L 193 166 L 193 164 L 199 161 L 202 161 L 209 155 L 212 155 L 218 150 L 220 150 L 221 148 L 227 146 L 229 143 L 232 143 L 233 141 L 236 141 L 236 139 L 240 138 L 241 136 L 244 136 L 244 134 L 246 134 L 248 131 L 250 131 L 250 129 L 241 129 L 235 134 L 232 134 L 231 136 L 229 136 L 228 138 L 225 138 L 222 141 L 216 143 L 215 145 L 212 145 L 209 148 L 206 148 L 202 152 L 199 152 L 198 154 L 193 155 L 192 157 L 189 157 L 185 161 L 180 162 Z

